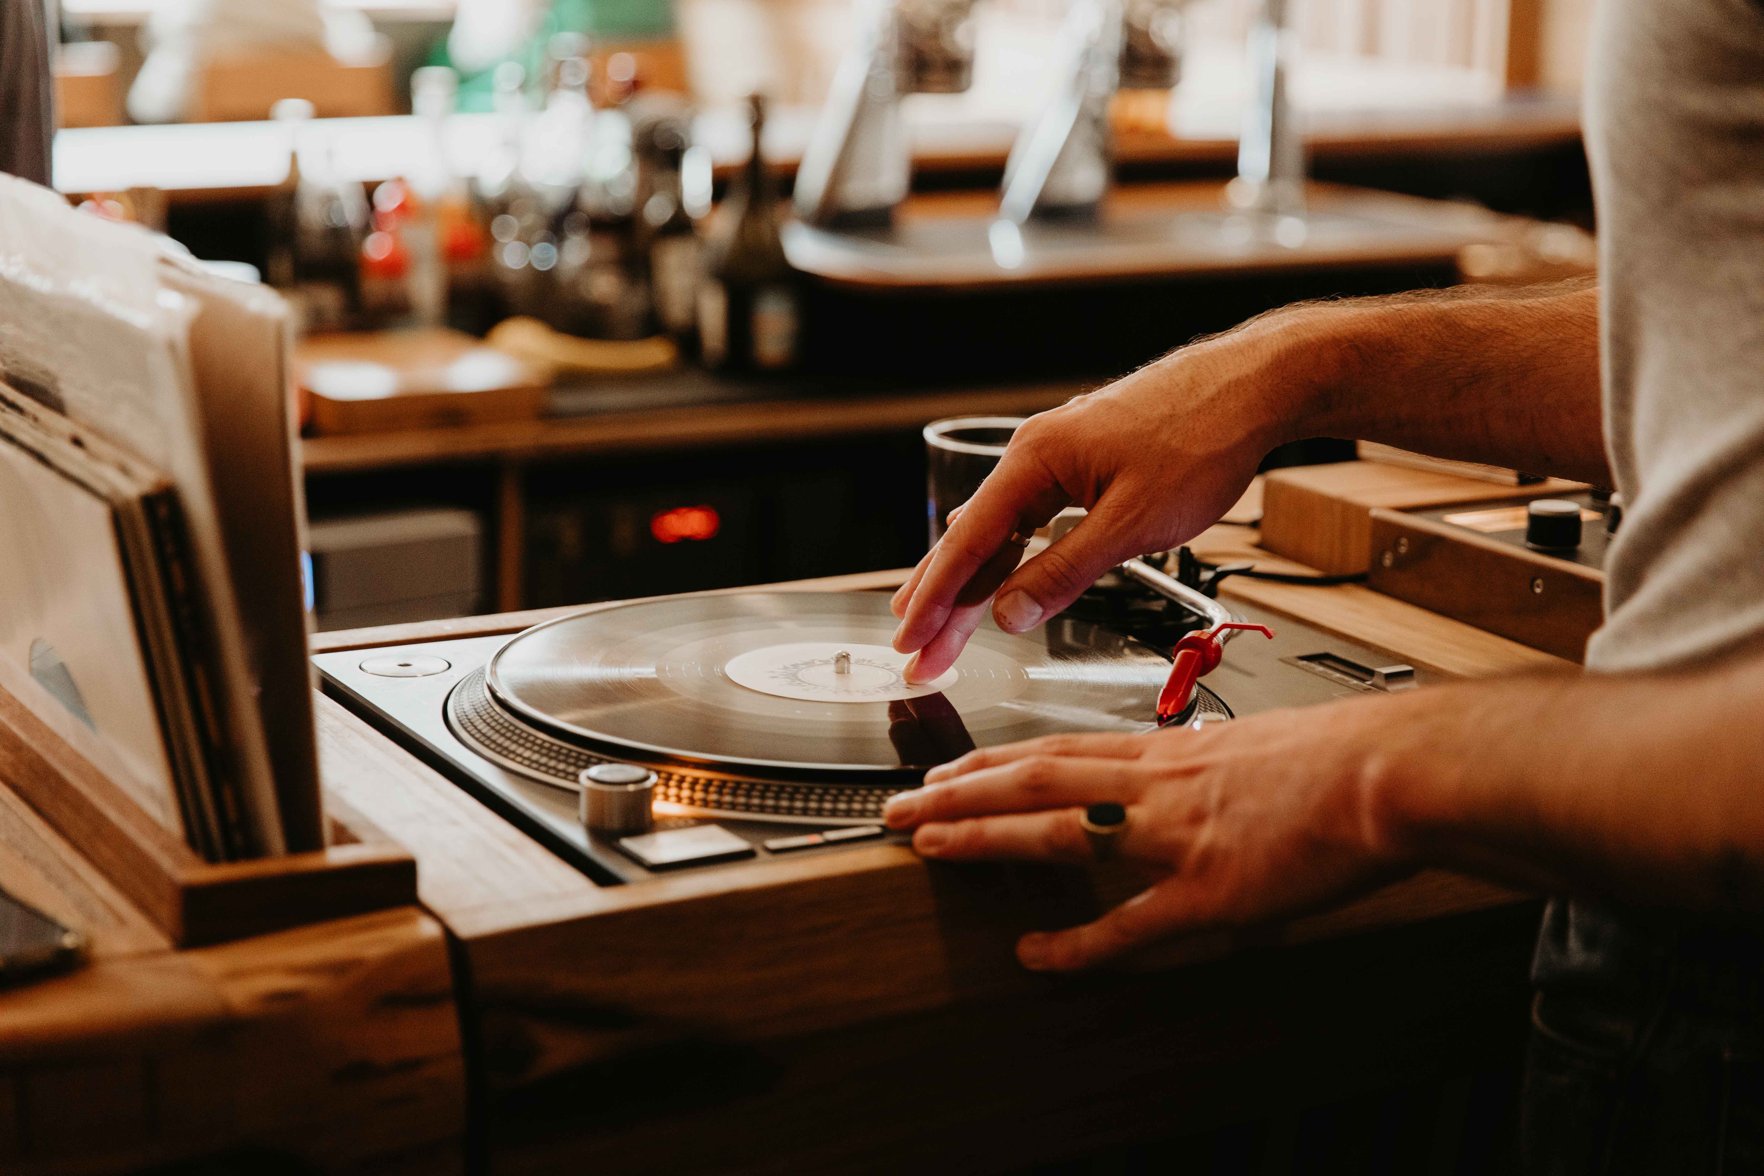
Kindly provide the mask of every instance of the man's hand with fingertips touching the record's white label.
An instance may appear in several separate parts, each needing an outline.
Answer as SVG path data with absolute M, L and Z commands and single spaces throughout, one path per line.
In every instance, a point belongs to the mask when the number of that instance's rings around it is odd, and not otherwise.
M 908 681 L 954 665 L 995 591 L 998 628 L 1021 633 L 1120 561 L 1177 547 L 1230 510 L 1261 457 L 1289 439 L 1304 337 L 1291 323 L 1251 324 L 1021 425 L 894 594 L 894 649 L 916 654 Z M 1309 353 L 1304 363 L 1316 368 L 1323 349 Z M 1016 568 L 1011 532 L 1028 534 L 1073 504 L 1090 517 Z

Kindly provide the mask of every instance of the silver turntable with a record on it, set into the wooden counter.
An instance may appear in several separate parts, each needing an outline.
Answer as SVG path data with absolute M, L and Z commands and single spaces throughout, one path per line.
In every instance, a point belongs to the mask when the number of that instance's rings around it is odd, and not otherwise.
M 1390 674 L 1397 658 L 1387 651 L 1240 610 L 1272 624 L 1275 640 L 1235 644 L 1184 721 L 1429 677 Z M 584 829 L 584 769 L 653 769 L 660 830 L 732 834 L 718 834 L 721 853 L 688 857 L 688 869 L 901 841 L 884 830 L 882 804 L 937 763 L 1046 733 L 1154 730 L 1170 647 L 1231 619 L 1198 592 L 1177 603 L 1124 582 L 1025 635 L 988 621 L 956 666 L 924 686 L 901 677 L 880 592 L 594 605 L 513 638 L 328 652 L 314 663 L 326 691 L 610 885 L 663 866 Z M 720 864 L 695 864 L 713 859 Z

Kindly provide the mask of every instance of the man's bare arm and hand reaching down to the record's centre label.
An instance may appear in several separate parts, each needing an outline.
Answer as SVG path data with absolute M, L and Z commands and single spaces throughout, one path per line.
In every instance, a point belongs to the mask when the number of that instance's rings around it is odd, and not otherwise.
M 1175 351 L 1034 416 L 894 596 L 894 649 L 926 682 L 997 591 L 1021 633 L 1129 555 L 1217 520 L 1282 441 L 1364 437 L 1436 457 L 1611 485 L 1598 407 L 1598 291 L 1457 287 L 1298 305 Z M 1090 517 L 1016 566 L 1065 506 Z

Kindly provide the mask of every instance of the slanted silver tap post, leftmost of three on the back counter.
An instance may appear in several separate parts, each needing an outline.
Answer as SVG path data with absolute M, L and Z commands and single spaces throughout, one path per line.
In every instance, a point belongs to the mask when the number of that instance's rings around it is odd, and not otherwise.
M 900 100 L 974 81 L 974 0 L 861 0 L 796 175 L 796 215 L 815 227 L 886 226 L 912 182 Z

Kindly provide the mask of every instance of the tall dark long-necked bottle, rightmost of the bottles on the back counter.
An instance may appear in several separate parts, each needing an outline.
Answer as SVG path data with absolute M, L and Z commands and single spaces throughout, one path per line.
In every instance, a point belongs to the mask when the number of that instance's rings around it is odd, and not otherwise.
M 781 372 L 796 365 L 801 314 L 778 234 L 778 192 L 760 134 L 766 100 L 748 99 L 753 153 L 706 249 L 699 284 L 699 354 L 716 372 Z

